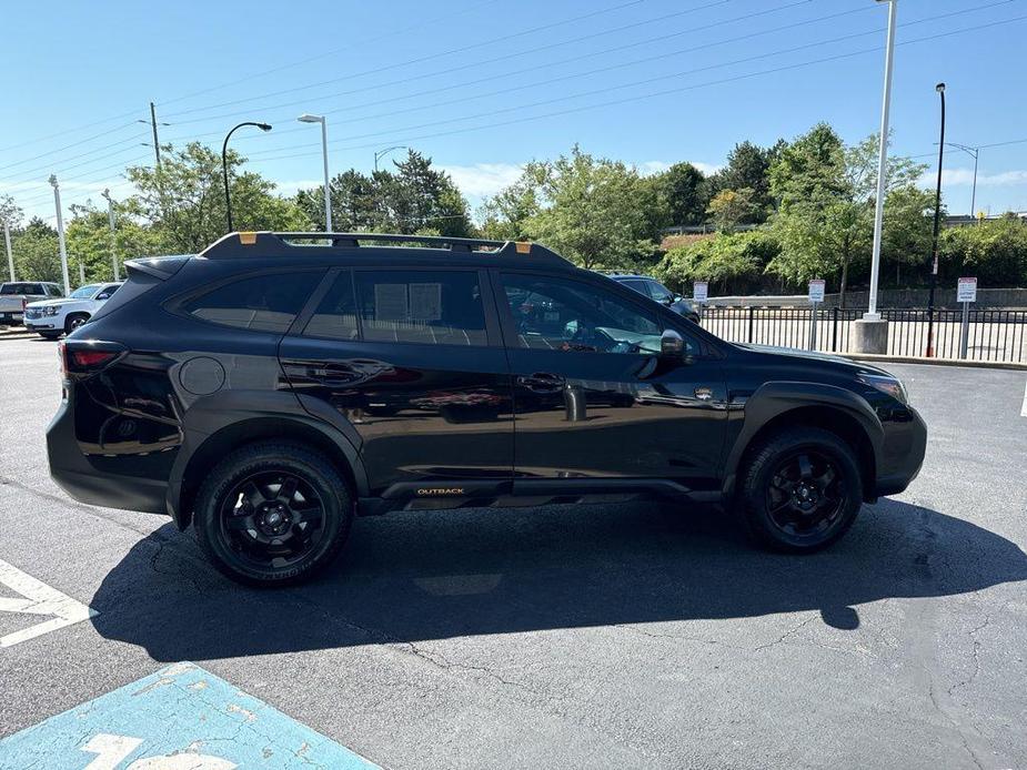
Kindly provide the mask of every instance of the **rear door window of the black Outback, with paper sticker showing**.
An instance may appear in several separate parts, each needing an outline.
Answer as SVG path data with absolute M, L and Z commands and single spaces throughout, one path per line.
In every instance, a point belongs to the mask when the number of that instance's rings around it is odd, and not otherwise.
M 363 340 L 486 345 L 485 312 L 473 271 L 358 271 Z

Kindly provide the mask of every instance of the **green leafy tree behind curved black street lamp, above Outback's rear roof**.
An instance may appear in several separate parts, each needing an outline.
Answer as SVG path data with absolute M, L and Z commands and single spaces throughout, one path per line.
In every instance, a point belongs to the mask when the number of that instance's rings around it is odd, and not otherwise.
M 230 150 L 232 217 L 236 230 L 309 230 L 310 221 L 295 201 L 274 194 L 275 185 L 254 172 L 243 172 L 245 159 Z M 159 170 L 131 166 L 129 180 L 138 194 L 127 210 L 148 222 L 163 251 L 199 252 L 224 235 L 224 181 L 221 155 L 191 142 L 182 150 L 164 149 Z

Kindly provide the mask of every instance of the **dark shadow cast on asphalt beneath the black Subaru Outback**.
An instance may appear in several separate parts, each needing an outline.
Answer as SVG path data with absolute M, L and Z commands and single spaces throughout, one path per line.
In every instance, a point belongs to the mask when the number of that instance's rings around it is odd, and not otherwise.
M 102 636 L 177 661 L 797 610 L 852 629 L 864 602 L 1025 579 L 1016 544 L 896 500 L 805 557 L 752 549 L 724 514 L 635 504 L 359 519 L 324 576 L 272 590 L 222 578 L 169 524 L 91 605 Z

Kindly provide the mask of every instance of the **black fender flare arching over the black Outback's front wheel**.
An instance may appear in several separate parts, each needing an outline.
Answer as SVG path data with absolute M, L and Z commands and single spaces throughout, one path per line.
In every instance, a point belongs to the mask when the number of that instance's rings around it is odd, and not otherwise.
M 727 453 L 724 467 L 724 494 L 734 493 L 735 480 L 745 457 L 762 432 L 772 425 L 781 426 L 789 413 L 797 424 L 809 424 L 809 417 L 833 412 L 848 424 L 857 425 L 866 438 L 870 456 L 869 468 L 877 473 L 876 463 L 884 444 L 884 427 L 867 401 L 857 393 L 836 385 L 808 382 L 768 382 L 761 385 L 745 402 L 745 418 L 734 444 Z M 864 479 L 866 483 L 872 479 Z

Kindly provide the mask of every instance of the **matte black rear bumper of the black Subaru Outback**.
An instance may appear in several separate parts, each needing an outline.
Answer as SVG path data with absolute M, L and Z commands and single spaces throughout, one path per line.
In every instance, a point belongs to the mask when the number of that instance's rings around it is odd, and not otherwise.
M 148 514 L 167 513 L 167 482 L 103 472 L 82 453 L 67 401 L 61 402 L 47 428 L 47 458 L 50 477 L 80 503 Z

